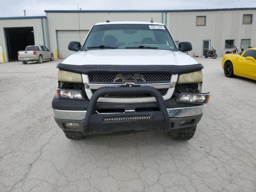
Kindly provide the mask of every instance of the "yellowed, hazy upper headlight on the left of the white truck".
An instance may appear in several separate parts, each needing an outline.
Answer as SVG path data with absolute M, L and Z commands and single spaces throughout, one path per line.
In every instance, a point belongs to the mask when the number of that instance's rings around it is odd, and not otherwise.
M 70 71 L 58 70 L 58 81 L 82 83 L 82 75 Z

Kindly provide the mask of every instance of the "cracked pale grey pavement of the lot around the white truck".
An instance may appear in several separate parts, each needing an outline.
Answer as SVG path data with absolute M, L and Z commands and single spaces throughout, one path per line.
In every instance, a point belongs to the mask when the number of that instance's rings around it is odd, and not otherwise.
M 0 64 L 0 191 L 256 191 L 256 81 L 196 59 L 211 98 L 182 142 L 153 131 L 68 140 L 51 107 L 61 61 Z

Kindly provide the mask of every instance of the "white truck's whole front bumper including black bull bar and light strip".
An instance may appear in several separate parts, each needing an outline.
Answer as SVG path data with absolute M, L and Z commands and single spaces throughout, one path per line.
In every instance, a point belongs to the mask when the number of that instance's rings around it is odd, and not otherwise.
M 150 93 L 156 98 L 156 102 L 136 103 L 136 104 L 98 104 L 97 100 L 103 94 L 109 93 Z M 83 104 L 75 106 L 71 103 Z M 60 104 L 65 103 L 65 109 Z M 173 103 L 173 105 L 171 105 Z M 168 108 L 168 106 L 173 108 Z M 100 106 L 104 108 L 124 108 L 125 112 L 98 113 Z M 112 107 L 111 107 L 112 106 Z M 135 108 L 148 108 L 149 106 L 158 107 L 158 110 L 139 111 Z M 179 106 L 179 107 L 175 107 Z M 203 115 L 203 105 L 182 104 L 175 100 L 164 101 L 162 95 L 154 88 L 101 88 L 96 91 L 90 101 L 71 101 L 54 98 L 52 102 L 54 109 L 54 119 L 62 130 L 83 132 L 83 134 L 110 133 L 127 130 L 161 130 L 174 131 L 177 129 L 191 129 L 198 124 Z M 82 108 L 86 110 L 81 110 Z M 67 110 L 72 109 L 72 110 Z M 79 126 L 70 128 L 66 123 L 76 123 Z M 187 130 L 189 131 L 189 130 Z

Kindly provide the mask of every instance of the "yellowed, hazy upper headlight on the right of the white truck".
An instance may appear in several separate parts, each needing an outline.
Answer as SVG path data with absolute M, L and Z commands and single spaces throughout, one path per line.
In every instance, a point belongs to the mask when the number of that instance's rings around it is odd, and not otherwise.
M 199 82 L 203 82 L 202 70 L 181 74 L 178 79 L 178 83 L 199 83 Z

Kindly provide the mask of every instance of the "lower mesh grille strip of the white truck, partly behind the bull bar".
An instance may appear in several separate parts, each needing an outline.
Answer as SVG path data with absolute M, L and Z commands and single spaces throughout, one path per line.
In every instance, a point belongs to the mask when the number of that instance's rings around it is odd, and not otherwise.
M 92 94 L 96 92 L 97 89 L 92 89 Z M 162 96 L 166 95 L 168 89 L 158 89 Z M 102 96 L 103 98 L 144 98 L 144 97 L 152 97 L 151 94 L 141 93 L 141 94 L 105 94 Z

